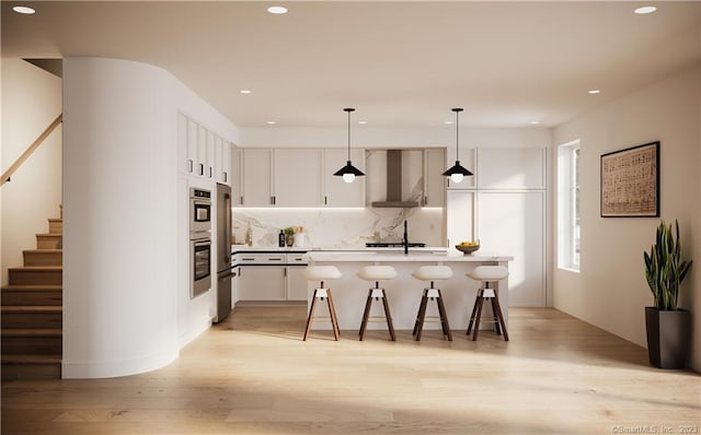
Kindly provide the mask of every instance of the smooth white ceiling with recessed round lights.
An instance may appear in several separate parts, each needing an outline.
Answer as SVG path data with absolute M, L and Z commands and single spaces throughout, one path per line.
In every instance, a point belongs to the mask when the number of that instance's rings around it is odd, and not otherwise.
M 242 128 L 552 127 L 701 57 L 698 1 L 277 3 L 3 0 L 2 56 L 156 64 Z

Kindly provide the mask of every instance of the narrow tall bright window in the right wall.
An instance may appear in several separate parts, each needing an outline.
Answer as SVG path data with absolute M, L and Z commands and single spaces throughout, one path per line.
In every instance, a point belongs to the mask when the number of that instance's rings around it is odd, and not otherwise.
M 579 270 L 579 141 L 558 146 L 558 267 Z

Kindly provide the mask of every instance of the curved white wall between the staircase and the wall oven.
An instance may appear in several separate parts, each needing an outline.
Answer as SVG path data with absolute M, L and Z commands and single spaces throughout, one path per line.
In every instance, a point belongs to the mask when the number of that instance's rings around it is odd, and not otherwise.
M 235 127 L 169 72 L 115 59 L 65 59 L 64 108 L 64 377 L 159 368 L 211 318 L 183 293 L 177 113 Z

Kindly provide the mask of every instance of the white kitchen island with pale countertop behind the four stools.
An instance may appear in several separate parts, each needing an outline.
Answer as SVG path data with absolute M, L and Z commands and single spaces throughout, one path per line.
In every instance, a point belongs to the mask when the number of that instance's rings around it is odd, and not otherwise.
M 343 277 L 324 283 L 324 286 L 332 289 L 333 301 L 338 318 L 338 326 L 342 330 L 355 330 L 357 332 L 363 319 L 363 309 L 367 292 L 375 283 L 364 281 L 357 277 L 357 272 L 369 264 L 392 266 L 397 270 L 398 277 L 393 280 L 380 282 L 387 292 L 390 304 L 394 328 L 398 330 L 411 330 L 416 320 L 416 313 L 421 302 L 423 289 L 428 286 L 428 282 L 420 281 L 412 277 L 412 272 L 421 266 L 445 264 L 452 269 L 452 278 L 437 281 L 435 286 L 440 289 L 450 329 L 464 330 L 474 297 L 480 283 L 466 277 L 466 273 L 478 266 L 498 264 L 508 267 L 513 260 L 510 256 L 504 255 L 463 255 L 461 252 L 436 248 L 424 248 L 411 250 L 404 254 L 402 250 L 380 250 L 380 251 L 309 251 L 303 258 L 310 266 L 335 266 Z M 310 282 L 308 295 L 311 298 L 313 289 L 319 286 L 319 282 Z M 508 321 L 508 279 L 502 280 L 496 287 L 499 290 L 499 302 L 504 317 Z M 311 301 L 308 302 L 308 307 Z M 371 315 L 382 315 L 381 304 L 372 304 Z M 317 317 L 325 316 L 325 304 L 317 305 Z M 435 304 L 428 305 L 427 316 L 437 315 Z M 487 305 L 484 306 L 483 318 L 491 316 Z M 483 325 L 481 329 L 491 328 L 492 325 Z M 386 329 L 384 322 L 370 322 L 368 329 Z M 427 322 L 425 330 L 439 329 L 439 322 Z M 331 329 L 327 321 L 314 321 L 313 329 Z M 343 334 L 342 334 L 343 338 Z M 347 337 L 346 337 L 347 338 Z M 357 334 L 352 338 L 357 339 Z

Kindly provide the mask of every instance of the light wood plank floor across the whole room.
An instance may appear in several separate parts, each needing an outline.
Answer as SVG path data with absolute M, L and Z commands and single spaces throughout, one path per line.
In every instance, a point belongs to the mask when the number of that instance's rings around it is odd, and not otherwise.
M 237 307 L 153 373 L 3 384 L 2 434 L 701 431 L 699 374 L 651 368 L 644 349 L 554 309 L 509 313 L 509 342 L 489 331 L 302 342 L 304 307 Z

